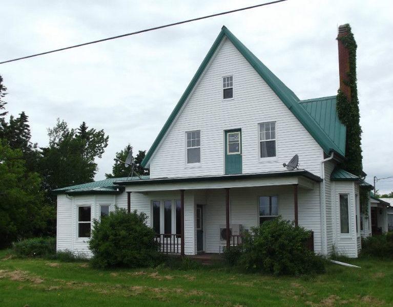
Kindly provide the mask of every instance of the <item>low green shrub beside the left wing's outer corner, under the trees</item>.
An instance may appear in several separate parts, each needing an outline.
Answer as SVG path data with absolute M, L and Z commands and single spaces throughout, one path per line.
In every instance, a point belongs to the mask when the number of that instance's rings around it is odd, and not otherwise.
M 53 257 L 56 255 L 56 238 L 31 238 L 13 244 L 17 257 Z

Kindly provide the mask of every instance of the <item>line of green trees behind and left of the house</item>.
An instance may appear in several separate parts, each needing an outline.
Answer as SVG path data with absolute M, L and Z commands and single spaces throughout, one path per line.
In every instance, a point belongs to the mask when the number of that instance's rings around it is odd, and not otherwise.
M 56 233 L 56 196 L 54 189 L 94 181 L 98 171 L 96 159 L 108 146 L 103 129 L 90 128 L 82 122 L 70 128 L 57 119 L 48 128 L 49 144 L 38 146 L 31 141 L 29 117 L 25 112 L 10 115 L 4 100 L 7 88 L 0 76 L 0 248 L 33 236 Z M 123 163 L 132 146 L 116 153 L 112 173 L 107 178 L 128 177 L 130 168 Z M 140 163 L 146 151 L 139 150 L 135 170 L 148 175 Z

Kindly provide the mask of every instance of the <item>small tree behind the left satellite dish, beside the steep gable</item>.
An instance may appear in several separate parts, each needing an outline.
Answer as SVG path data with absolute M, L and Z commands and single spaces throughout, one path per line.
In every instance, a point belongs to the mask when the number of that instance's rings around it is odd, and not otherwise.
M 112 166 L 112 173 L 105 174 L 107 178 L 122 178 L 122 177 L 128 177 L 130 175 L 132 166 L 126 167 L 123 162 L 126 161 L 128 153 L 130 152 L 130 150 L 132 150 L 132 148 L 133 147 L 130 144 L 128 144 L 124 149 L 120 150 L 119 152 L 116 152 L 116 157 L 115 157 L 116 160 Z M 141 162 L 145 154 L 146 154 L 146 150 L 144 151 L 139 150 L 134 158 L 135 161 L 134 171 L 140 174 L 140 176 L 149 175 L 149 169 L 143 168 L 141 166 Z

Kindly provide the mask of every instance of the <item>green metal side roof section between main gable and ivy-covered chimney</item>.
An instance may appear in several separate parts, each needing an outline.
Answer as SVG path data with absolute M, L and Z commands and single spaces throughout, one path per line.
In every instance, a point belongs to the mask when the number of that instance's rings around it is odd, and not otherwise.
M 336 96 L 301 100 L 299 103 L 340 149 L 339 152 L 345 153 L 346 127 L 338 118 Z

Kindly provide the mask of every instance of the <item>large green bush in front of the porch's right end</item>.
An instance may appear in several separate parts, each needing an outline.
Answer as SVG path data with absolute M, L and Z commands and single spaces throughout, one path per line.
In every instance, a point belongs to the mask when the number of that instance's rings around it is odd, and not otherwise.
M 275 275 L 323 273 L 325 260 L 305 246 L 309 231 L 281 217 L 245 233 L 239 265 Z

